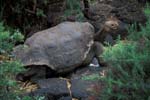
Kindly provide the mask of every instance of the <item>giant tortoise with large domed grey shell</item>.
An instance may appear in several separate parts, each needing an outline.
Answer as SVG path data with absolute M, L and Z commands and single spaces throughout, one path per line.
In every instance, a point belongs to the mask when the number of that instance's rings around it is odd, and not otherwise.
M 110 30 L 114 28 L 112 23 L 108 25 L 107 22 L 106 26 Z M 28 38 L 24 45 L 13 50 L 13 55 L 29 69 L 19 73 L 17 80 L 25 81 L 32 80 L 32 77 L 38 79 L 52 76 L 54 73 L 67 73 L 90 64 L 94 57 L 100 65 L 106 66 L 100 57 L 104 50 L 103 45 L 94 41 L 95 36 L 97 38 L 98 35 L 88 22 L 63 22 L 37 32 Z

